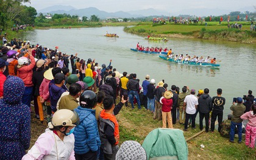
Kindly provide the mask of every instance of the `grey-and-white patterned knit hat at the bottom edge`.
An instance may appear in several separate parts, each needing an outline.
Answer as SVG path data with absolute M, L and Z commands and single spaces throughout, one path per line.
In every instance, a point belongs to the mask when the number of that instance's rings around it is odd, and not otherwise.
M 146 160 L 146 151 L 136 141 L 125 141 L 121 145 L 120 149 L 116 153 L 116 159 L 118 160 Z

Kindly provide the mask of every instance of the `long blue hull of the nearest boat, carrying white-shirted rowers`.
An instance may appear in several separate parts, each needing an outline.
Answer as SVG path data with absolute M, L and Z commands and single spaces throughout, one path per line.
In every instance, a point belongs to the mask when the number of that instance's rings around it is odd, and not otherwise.
M 179 63 L 179 64 L 188 64 L 188 65 L 195 65 L 195 66 L 212 66 L 212 67 L 219 67 L 221 66 L 220 64 L 215 64 L 215 63 L 205 63 L 205 62 L 195 62 L 195 61 L 185 61 L 185 60 L 179 60 L 178 58 L 173 59 L 173 58 L 168 58 L 165 55 L 158 55 L 159 58 L 162 58 L 163 60 L 171 61 L 174 63 Z

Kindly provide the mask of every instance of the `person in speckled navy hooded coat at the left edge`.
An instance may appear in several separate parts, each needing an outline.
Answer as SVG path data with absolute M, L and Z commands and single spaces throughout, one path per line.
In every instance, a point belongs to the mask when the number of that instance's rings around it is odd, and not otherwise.
M 0 159 L 21 159 L 30 144 L 30 110 L 21 102 L 24 82 L 9 76 L 0 99 Z

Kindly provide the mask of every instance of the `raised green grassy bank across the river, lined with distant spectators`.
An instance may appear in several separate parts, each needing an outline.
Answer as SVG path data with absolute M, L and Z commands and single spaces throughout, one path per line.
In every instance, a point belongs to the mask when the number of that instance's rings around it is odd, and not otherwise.
M 210 23 L 205 25 L 187 24 L 152 24 L 138 23 L 134 27 L 125 27 L 125 32 L 139 35 L 151 35 L 166 38 L 201 38 L 204 40 L 235 41 L 238 43 L 255 44 L 256 32 L 250 31 L 250 26 L 244 24 L 240 29 L 228 29 L 226 25 Z

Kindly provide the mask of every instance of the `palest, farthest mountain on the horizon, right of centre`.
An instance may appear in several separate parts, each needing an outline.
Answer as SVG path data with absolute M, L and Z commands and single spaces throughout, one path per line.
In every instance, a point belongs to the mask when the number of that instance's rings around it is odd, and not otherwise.
M 155 10 L 155 9 L 134 10 L 134 11 L 129 11 L 128 13 L 130 13 L 131 15 L 143 15 L 143 16 L 154 16 L 154 15 L 168 16 L 169 15 L 168 12 L 158 11 L 158 10 Z

